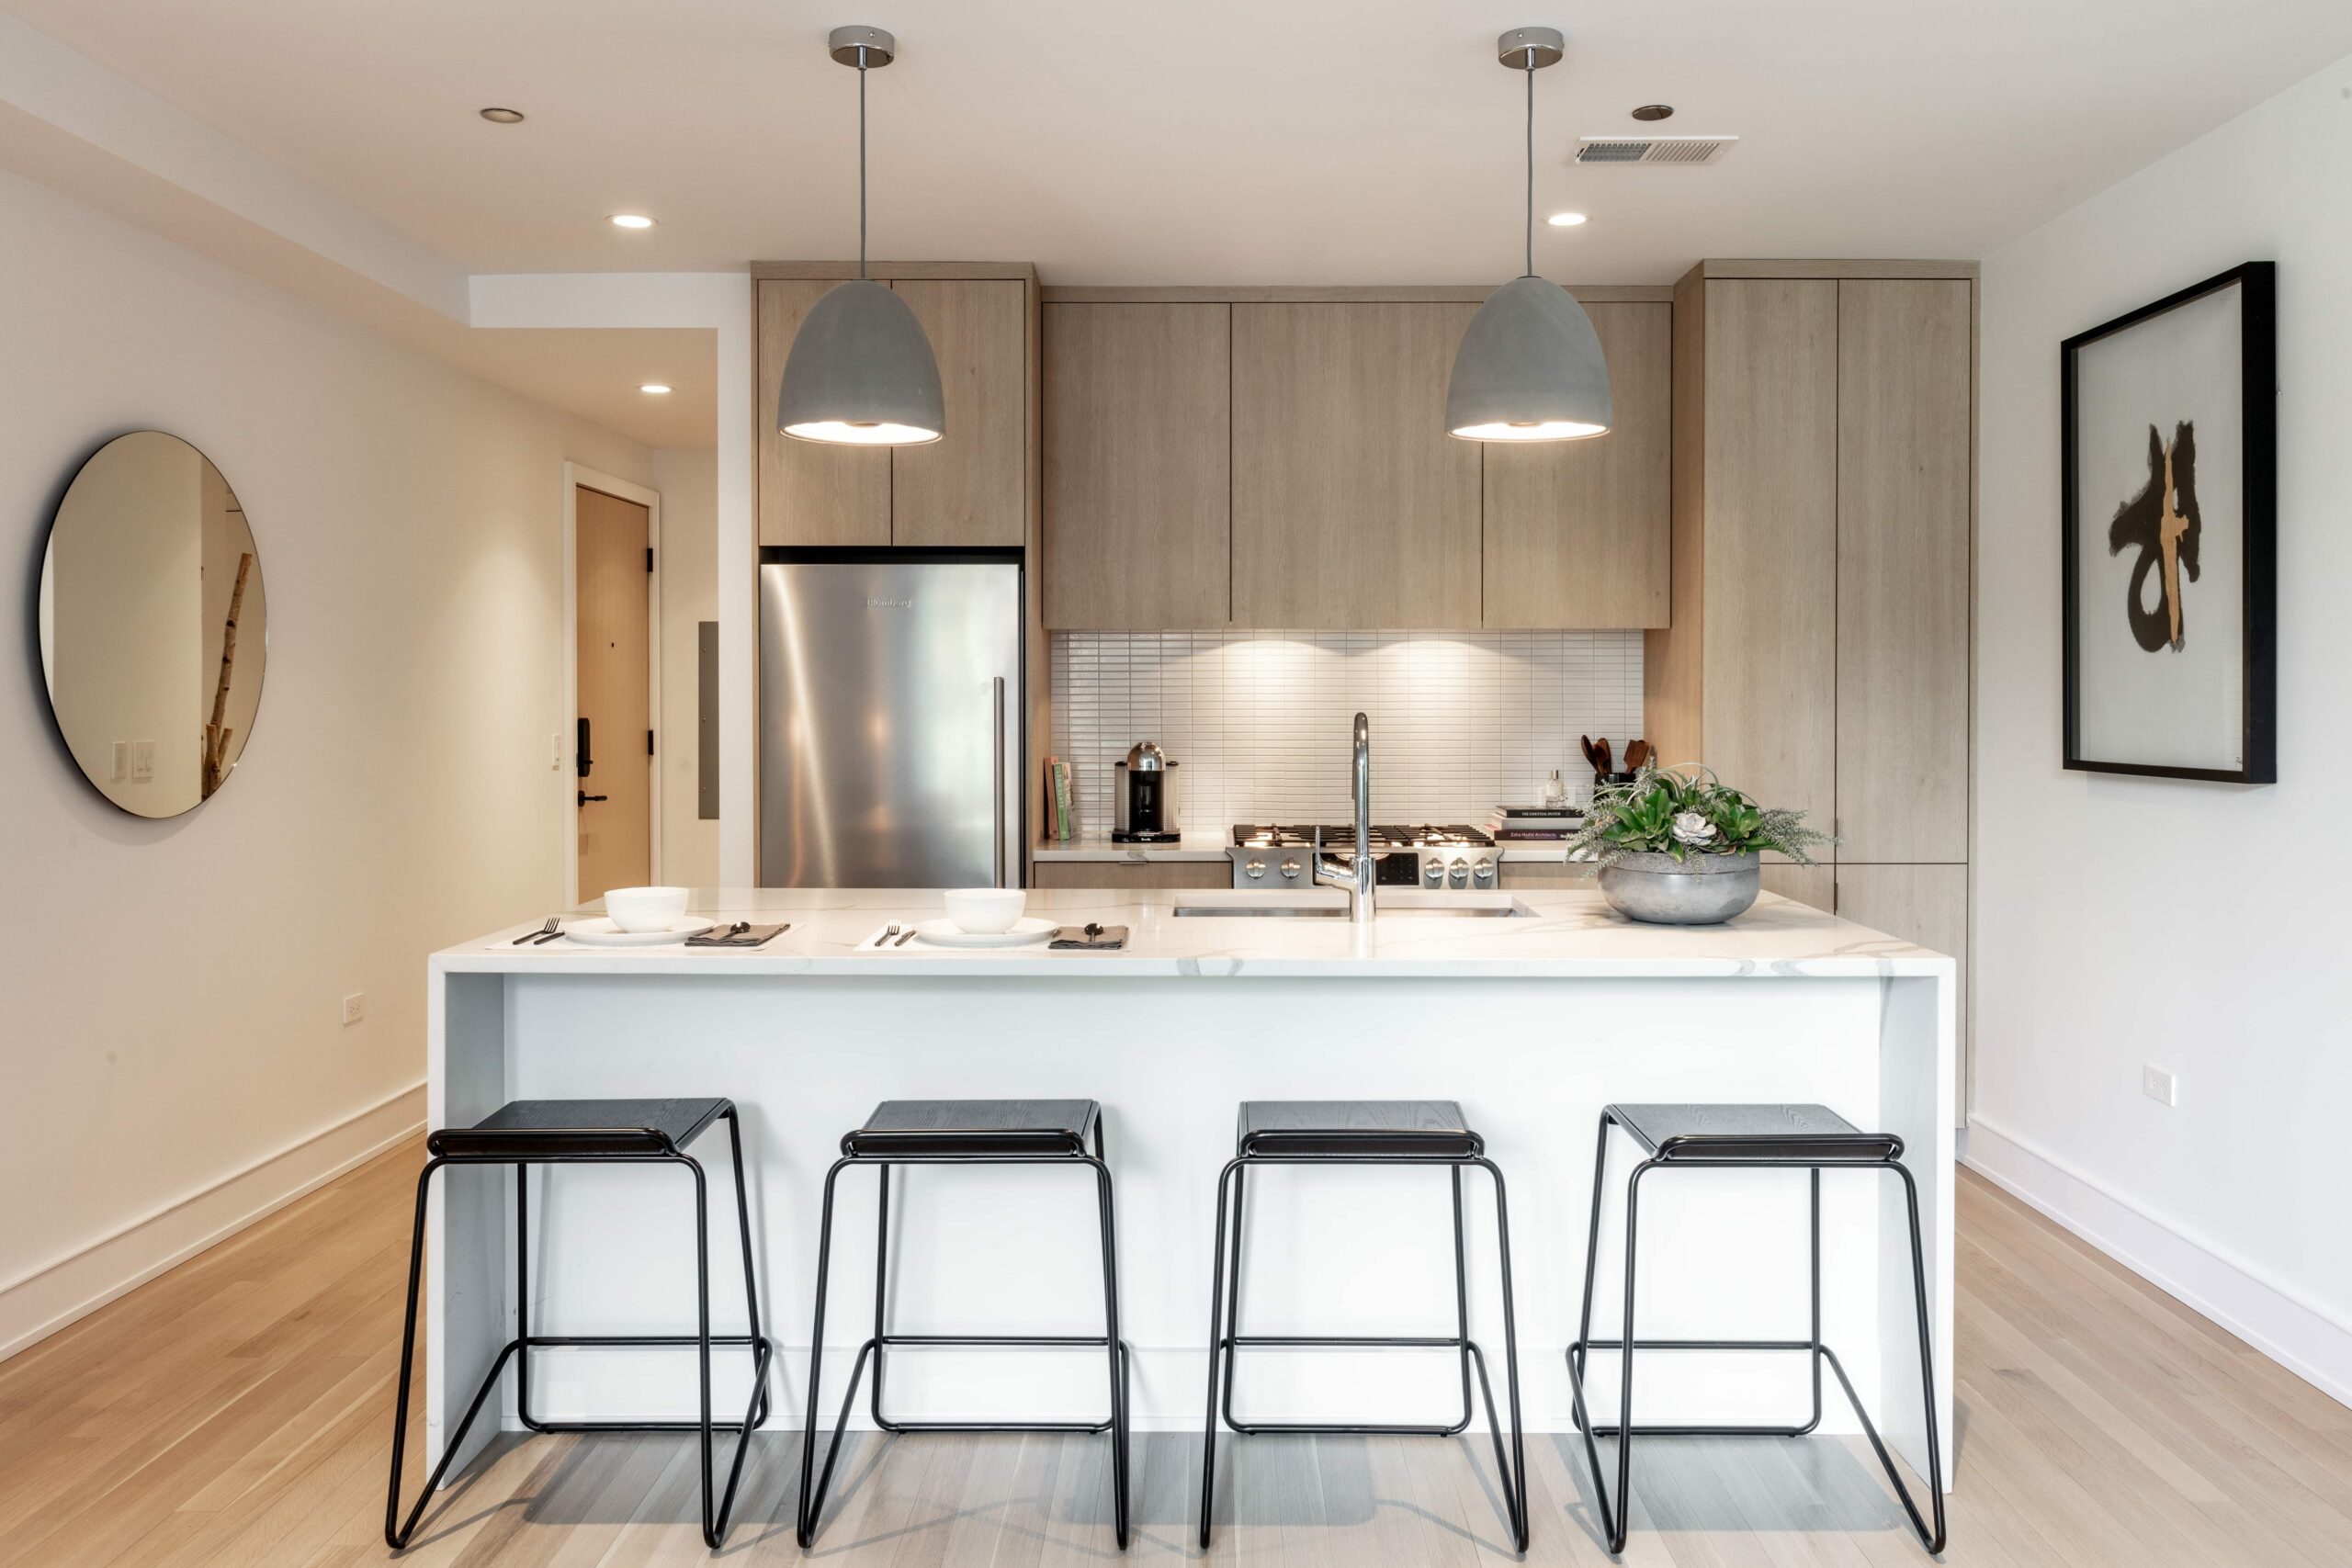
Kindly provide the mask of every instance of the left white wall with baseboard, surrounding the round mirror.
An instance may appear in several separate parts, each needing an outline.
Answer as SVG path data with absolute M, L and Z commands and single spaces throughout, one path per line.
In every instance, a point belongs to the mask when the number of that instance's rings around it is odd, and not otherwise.
M 654 463 L 14 174 L 0 346 L 5 1354 L 416 1124 L 423 954 L 562 891 L 562 463 Z M 252 745 L 169 823 L 73 769 L 31 628 L 64 482 L 139 428 L 212 456 L 270 590 Z

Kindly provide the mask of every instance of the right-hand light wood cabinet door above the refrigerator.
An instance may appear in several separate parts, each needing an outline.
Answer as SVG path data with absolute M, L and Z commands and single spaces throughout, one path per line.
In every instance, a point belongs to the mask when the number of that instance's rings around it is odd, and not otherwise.
M 1021 545 L 1028 461 L 1028 287 L 1009 277 L 901 277 L 948 407 L 927 447 L 891 449 L 894 545 Z

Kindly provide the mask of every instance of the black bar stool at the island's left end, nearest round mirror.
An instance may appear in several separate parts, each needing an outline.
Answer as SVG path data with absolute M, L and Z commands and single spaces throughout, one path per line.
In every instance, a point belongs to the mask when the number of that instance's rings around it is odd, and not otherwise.
M 710 1333 L 710 1227 L 708 1190 L 703 1166 L 684 1147 L 713 1121 L 727 1119 L 727 1145 L 736 1168 L 736 1229 L 743 1239 L 743 1302 L 750 1314 L 750 1333 Z M 482 1413 L 489 1392 L 499 1387 L 506 1361 L 515 1361 L 515 1418 L 529 1432 L 696 1432 L 703 1448 L 703 1544 L 713 1552 L 727 1535 L 727 1516 L 734 1509 L 736 1483 L 743 1479 L 743 1455 L 750 1448 L 750 1429 L 767 1420 L 767 1363 L 774 1347 L 760 1333 L 760 1286 L 750 1262 L 750 1204 L 743 1197 L 743 1133 L 736 1124 L 734 1100 L 510 1100 L 482 1121 L 459 1128 L 445 1126 L 426 1138 L 426 1168 L 416 1178 L 416 1234 L 409 1244 L 409 1309 L 400 1328 L 400 1396 L 393 1408 L 393 1481 L 383 1500 L 383 1542 L 402 1552 L 416 1533 L 416 1521 L 442 1483 L 449 1462 L 456 1460 L 473 1429 L 473 1418 Z M 607 1333 L 607 1335 L 553 1335 L 532 1333 L 532 1222 L 529 1222 L 529 1175 L 524 1166 L 616 1166 L 616 1164 L 663 1164 L 684 1168 L 694 1178 L 694 1333 Z M 426 1260 L 426 1194 L 433 1173 L 442 1166 L 515 1166 L 515 1338 L 499 1349 L 496 1361 L 475 1389 L 466 1418 L 442 1446 L 440 1465 L 426 1479 L 416 1507 L 407 1521 L 400 1519 L 400 1460 L 409 1432 L 409 1371 L 416 1354 L 416 1286 Z M 696 1420 L 633 1420 L 633 1422 L 548 1422 L 532 1415 L 532 1349 L 626 1345 L 626 1347 L 684 1347 L 694 1345 L 701 1359 L 701 1415 Z M 710 1420 L 710 1347 L 746 1345 L 753 1352 L 750 1408 L 739 1422 Z M 736 1432 L 736 1455 L 727 1467 L 727 1493 L 713 1507 L 710 1458 L 713 1432 Z

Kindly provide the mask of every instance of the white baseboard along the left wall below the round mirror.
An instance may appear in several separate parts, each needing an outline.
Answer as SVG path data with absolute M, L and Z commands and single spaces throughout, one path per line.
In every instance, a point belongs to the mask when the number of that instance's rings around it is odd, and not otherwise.
M 0 1361 L 263 1220 L 426 1124 L 426 1086 L 296 1138 L 122 1229 L 0 1284 Z

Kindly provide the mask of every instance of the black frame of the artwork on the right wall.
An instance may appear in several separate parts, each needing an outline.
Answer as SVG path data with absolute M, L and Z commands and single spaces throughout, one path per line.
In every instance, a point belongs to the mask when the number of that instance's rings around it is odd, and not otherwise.
M 2077 355 L 2117 331 L 2166 315 L 2218 289 L 2239 287 L 2241 397 L 2244 397 L 2244 691 L 2239 703 L 2239 769 L 2194 769 L 2154 762 L 2112 762 L 2082 755 L 2082 569 L 2077 543 L 2082 517 L 2079 388 Z M 2277 263 L 2246 261 L 2178 294 L 2140 306 L 2112 322 L 2077 331 L 2058 346 L 2060 367 L 2060 517 L 2065 592 L 2065 766 L 2082 773 L 2133 773 L 2140 778 L 2201 778 L 2263 785 L 2279 780 L 2277 665 L 2279 665 L 2279 423 L 2277 423 Z

